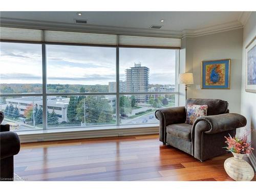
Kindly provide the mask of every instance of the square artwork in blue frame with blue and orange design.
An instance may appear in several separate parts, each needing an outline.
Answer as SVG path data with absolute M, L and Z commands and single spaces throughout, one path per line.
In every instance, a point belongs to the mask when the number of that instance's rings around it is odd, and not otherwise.
M 202 61 L 201 89 L 229 89 L 230 59 Z

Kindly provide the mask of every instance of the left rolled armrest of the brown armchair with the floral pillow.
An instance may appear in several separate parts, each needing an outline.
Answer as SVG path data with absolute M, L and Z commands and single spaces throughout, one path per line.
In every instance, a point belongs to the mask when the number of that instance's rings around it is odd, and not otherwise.
M 163 108 L 155 112 L 156 118 L 159 120 L 159 140 L 166 142 L 166 126 L 175 123 L 184 123 L 186 113 L 184 106 L 175 108 Z

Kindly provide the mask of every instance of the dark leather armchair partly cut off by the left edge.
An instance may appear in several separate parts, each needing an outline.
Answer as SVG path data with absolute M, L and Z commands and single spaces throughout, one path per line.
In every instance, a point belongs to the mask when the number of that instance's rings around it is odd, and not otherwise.
M 4 113 L 0 112 L 0 124 Z M 20 142 L 15 132 L 10 132 L 10 125 L 0 125 L 0 181 L 13 181 L 13 156 L 18 154 Z

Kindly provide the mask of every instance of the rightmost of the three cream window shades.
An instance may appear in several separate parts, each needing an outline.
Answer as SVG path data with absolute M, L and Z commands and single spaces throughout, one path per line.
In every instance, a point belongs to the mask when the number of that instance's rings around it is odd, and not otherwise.
M 119 35 L 119 46 L 180 48 L 179 38 Z

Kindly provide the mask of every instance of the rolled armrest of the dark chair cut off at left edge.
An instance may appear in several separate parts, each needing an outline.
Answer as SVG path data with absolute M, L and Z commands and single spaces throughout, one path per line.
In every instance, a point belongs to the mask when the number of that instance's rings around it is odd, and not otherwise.
M 0 133 L 0 158 L 5 159 L 18 154 L 20 141 L 15 132 Z

